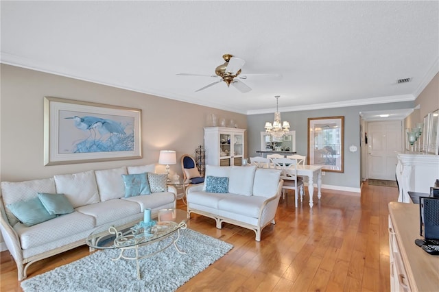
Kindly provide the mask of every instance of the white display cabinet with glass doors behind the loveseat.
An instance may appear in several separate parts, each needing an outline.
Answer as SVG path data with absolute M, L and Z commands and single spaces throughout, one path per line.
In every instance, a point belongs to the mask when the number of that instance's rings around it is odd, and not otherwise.
M 241 165 L 245 131 L 233 127 L 204 127 L 206 165 Z

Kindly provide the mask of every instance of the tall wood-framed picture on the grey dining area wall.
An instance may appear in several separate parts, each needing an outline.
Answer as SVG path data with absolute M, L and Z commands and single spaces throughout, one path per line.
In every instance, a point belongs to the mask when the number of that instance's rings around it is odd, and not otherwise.
M 308 164 L 344 172 L 344 117 L 308 118 Z

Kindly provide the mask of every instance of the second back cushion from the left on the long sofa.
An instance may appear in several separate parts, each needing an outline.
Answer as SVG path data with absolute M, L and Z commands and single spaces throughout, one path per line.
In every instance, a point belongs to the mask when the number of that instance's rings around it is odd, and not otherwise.
M 56 193 L 63 193 L 73 208 L 99 203 L 95 171 L 55 175 Z

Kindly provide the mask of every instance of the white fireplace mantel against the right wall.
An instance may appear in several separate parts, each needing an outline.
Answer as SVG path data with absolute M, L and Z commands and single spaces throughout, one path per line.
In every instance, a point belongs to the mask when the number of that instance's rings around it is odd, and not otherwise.
M 409 203 L 409 191 L 430 193 L 430 186 L 439 178 L 439 155 L 401 152 L 397 158 L 398 202 Z

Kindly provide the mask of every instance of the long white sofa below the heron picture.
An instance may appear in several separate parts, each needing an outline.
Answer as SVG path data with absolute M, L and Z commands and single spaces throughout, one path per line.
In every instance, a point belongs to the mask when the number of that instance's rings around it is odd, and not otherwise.
M 154 172 L 155 165 L 145 165 L 1 182 L 1 234 L 16 261 L 19 280 L 26 278 L 27 267 L 37 260 L 84 245 L 95 228 L 130 226 L 143 218 L 145 208 L 152 209 L 152 217 L 160 209 L 176 208 L 176 189 L 172 186 L 165 185 L 165 191 L 160 193 L 125 197 L 122 175 L 131 178 L 131 174 Z M 163 188 L 163 182 L 160 184 Z M 32 200 L 38 198 L 38 193 L 64 194 L 62 197 L 67 197 L 73 212 L 26 226 L 9 207 L 16 202 L 35 202 Z

